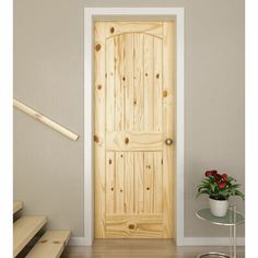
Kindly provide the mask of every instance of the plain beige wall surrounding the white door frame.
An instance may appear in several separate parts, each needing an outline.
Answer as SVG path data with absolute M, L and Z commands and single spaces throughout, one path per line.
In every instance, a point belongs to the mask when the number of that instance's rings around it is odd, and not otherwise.
M 73 142 L 15 110 L 14 197 L 83 235 L 83 8 L 184 7 L 185 235 L 225 235 L 195 216 L 207 203 L 195 195 L 206 168 L 244 185 L 244 0 L 139 2 L 14 0 L 14 96 L 82 136 Z

